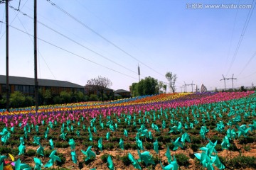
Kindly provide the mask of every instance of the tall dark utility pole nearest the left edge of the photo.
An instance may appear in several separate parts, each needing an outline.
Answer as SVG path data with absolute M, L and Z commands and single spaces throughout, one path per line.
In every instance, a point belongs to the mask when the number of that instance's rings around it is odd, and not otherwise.
M 6 110 L 9 112 L 9 10 L 6 0 Z

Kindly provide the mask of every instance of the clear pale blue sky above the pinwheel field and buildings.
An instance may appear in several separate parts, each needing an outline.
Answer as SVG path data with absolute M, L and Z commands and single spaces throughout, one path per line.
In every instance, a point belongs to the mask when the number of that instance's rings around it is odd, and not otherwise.
M 33 1 L 9 6 L 9 75 L 34 77 Z M 256 86 L 254 6 L 255 0 L 40 0 L 38 78 L 84 86 L 101 75 L 111 89 L 129 90 L 139 81 L 139 64 L 141 79 L 166 82 L 166 72 L 177 74 L 178 91 L 184 81 L 223 89 L 222 74 L 234 74 L 235 87 Z M 0 74 L 6 74 L 4 4 L 0 21 Z

